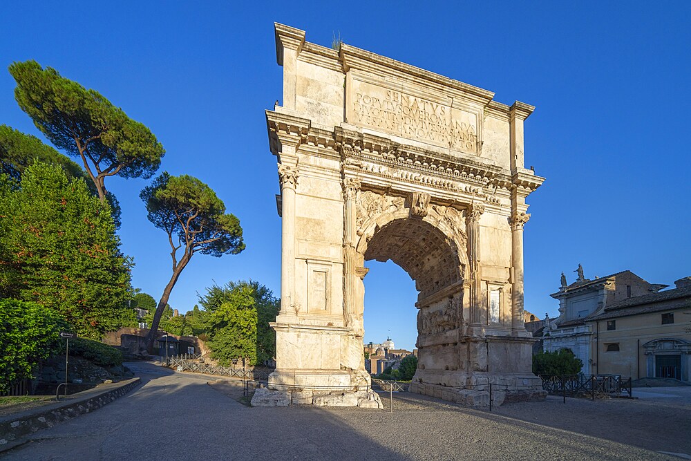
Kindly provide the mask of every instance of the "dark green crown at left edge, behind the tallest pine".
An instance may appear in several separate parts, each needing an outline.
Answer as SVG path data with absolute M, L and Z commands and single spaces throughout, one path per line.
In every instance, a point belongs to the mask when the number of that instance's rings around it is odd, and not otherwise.
M 13 180 L 20 182 L 21 174 L 26 167 L 35 161 L 61 167 L 70 179 L 83 178 L 86 180 L 89 191 L 98 196 L 96 186 L 78 164 L 53 147 L 44 144 L 39 138 L 12 129 L 7 125 L 0 125 L 0 172 L 6 173 Z M 120 227 L 120 204 L 110 192 L 106 194 L 106 198 L 111 205 L 115 226 Z

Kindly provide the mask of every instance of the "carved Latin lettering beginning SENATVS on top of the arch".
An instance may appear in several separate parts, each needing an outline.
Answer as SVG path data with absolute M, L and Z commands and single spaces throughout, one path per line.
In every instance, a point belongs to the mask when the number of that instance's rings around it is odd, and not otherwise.
M 477 152 L 477 126 L 471 121 L 474 115 L 399 91 L 383 93 L 384 97 L 378 97 L 355 92 L 352 122 L 403 138 Z M 460 120 L 463 115 L 466 120 Z

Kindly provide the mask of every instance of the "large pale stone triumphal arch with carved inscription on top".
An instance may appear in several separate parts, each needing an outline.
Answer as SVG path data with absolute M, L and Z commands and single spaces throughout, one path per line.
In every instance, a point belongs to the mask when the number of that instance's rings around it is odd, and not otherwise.
M 522 318 L 525 198 L 544 180 L 524 168 L 533 106 L 281 24 L 276 57 L 281 312 L 276 370 L 253 404 L 379 406 L 363 357 L 371 259 L 419 291 L 411 391 L 540 389 Z

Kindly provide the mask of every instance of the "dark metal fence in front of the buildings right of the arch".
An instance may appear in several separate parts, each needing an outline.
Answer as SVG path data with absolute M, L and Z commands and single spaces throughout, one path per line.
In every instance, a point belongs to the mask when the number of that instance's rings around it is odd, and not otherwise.
M 631 377 L 620 375 L 540 376 L 542 388 L 564 397 L 632 397 Z

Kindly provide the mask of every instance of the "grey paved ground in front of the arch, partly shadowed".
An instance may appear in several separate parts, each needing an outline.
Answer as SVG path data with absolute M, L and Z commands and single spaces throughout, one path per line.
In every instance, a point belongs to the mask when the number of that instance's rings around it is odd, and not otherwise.
M 143 386 L 36 433 L 8 460 L 662 460 L 691 453 L 691 406 L 676 397 L 550 397 L 488 413 L 401 394 L 394 411 L 249 408 L 233 384 L 128 364 Z M 655 390 L 660 393 L 660 389 Z M 635 395 L 635 391 L 634 391 Z M 681 398 L 681 397 L 679 397 Z

